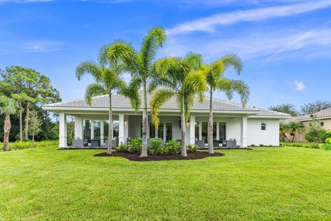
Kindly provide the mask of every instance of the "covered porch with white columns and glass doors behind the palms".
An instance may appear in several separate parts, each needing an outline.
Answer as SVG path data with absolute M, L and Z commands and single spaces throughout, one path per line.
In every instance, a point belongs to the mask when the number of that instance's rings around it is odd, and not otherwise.
M 67 148 L 67 118 L 74 117 L 73 146 L 106 146 L 108 144 L 108 113 L 59 113 L 59 148 Z M 214 147 L 223 141 L 235 141 L 236 146 L 246 148 L 248 116 L 215 113 L 213 123 Z M 186 143 L 207 146 L 208 114 L 192 113 L 186 126 Z M 113 144 L 127 144 L 133 138 L 142 137 L 142 115 L 113 113 Z M 178 113 L 161 113 L 160 126 L 155 128 L 148 120 L 148 138 L 159 138 L 166 144 L 170 140 L 181 142 L 181 119 Z M 79 141 L 79 142 L 77 142 Z M 70 145 L 72 145 L 70 144 Z M 70 146 L 69 145 L 69 146 Z

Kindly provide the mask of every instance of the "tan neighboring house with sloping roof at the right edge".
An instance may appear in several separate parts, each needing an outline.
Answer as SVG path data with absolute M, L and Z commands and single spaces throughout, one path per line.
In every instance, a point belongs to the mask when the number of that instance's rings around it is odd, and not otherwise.
M 297 132 L 295 134 L 293 140 L 294 142 L 307 142 L 307 140 L 305 140 L 305 134 L 308 133 L 309 122 L 314 116 L 319 119 L 319 121 L 321 122 L 321 126 L 323 126 L 325 130 L 331 130 L 331 108 L 319 111 L 312 115 L 301 115 L 298 117 L 285 119 L 283 122 L 286 124 L 290 122 L 302 122 L 305 125 L 304 131 L 302 131 L 301 133 Z M 292 135 L 290 135 L 290 138 L 292 138 Z

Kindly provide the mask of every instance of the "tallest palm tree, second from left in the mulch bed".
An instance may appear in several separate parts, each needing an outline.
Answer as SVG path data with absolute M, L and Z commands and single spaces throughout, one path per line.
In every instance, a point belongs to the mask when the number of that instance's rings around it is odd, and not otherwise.
M 115 41 L 108 47 L 103 48 L 100 53 L 101 64 L 107 60 L 121 59 L 126 64 L 132 75 L 130 86 L 132 89 L 143 87 L 143 148 L 141 157 L 147 157 L 147 126 L 148 126 L 148 106 L 147 88 L 152 79 L 152 68 L 154 66 L 157 49 L 165 42 L 165 30 L 160 27 L 152 28 L 143 39 L 141 50 L 137 52 L 131 44 L 126 41 Z M 140 99 L 139 99 L 140 101 Z M 137 101 L 137 104 L 139 103 Z

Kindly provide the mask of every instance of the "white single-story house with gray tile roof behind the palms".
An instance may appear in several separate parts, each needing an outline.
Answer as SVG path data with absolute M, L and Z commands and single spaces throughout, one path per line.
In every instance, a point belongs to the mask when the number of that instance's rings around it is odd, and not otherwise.
M 151 96 L 148 95 L 148 103 Z M 84 140 L 91 145 L 91 140 L 100 140 L 105 145 L 108 137 L 108 95 L 94 97 L 92 106 L 84 99 L 70 102 L 48 104 L 43 108 L 59 113 L 59 147 L 67 146 L 66 118 L 71 115 L 75 120 L 74 138 Z M 248 145 L 279 146 L 280 119 L 290 117 L 285 113 L 267 111 L 240 104 L 213 100 L 214 140 L 236 140 L 237 146 Z M 118 143 L 126 143 L 128 139 L 142 137 L 142 112 L 135 113 L 128 98 L 113 95 L 112 110 L 114 115 L 114 137 Z M 181 139 L 180 110 L 175 98 L 166 102 L 160 110 L 160 126 L 155 128 L 148 121 L 148 136 L 159 137 L 163 142 Z M 194 144 L 197 140 L 207 144 L 209 99 L 202 104 L 198 100 L 191 108 L 191 115 L 186 122 L 186 142 Z M 108 141 L 107 141 L 108 142 Z

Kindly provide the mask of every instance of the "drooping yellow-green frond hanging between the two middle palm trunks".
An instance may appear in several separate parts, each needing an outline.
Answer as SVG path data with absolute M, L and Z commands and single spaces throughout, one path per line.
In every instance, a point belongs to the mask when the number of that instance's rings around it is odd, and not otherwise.
M 150 108 L 152 109 L 152 123 L 159 127 L 159 111 L 161 106 L 165 104 L 175 93 L 172 90 L 160 89 L 154 93 L 152 100 L 150 101 Z

